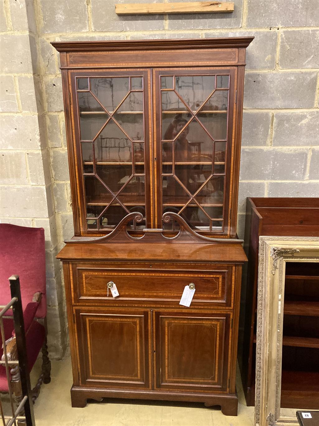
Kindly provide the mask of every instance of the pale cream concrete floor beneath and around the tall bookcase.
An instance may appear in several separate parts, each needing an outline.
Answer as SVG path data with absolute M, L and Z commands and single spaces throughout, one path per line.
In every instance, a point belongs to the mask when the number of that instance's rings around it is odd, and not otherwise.
M 199 403 L 109 399 L 72 408 L 71 360 L 51 363 L 51 383 L 42 385 L 34 405 L 36 426 L 253 426 L 254 407 L 246 406 L 239 377 L 237 417 L 224 416 L 220 409 Z M 31 373 L 31 386 L 39 367 L 37 363 Z

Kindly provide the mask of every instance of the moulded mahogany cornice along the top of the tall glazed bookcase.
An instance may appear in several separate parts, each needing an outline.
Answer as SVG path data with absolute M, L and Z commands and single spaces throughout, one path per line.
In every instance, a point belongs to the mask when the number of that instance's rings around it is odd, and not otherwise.
M 174 40 L 54 41 L 58 52 L 125 52 L 137 50 L 225 49 L 247 47 L 254 37 L 198 38 Z

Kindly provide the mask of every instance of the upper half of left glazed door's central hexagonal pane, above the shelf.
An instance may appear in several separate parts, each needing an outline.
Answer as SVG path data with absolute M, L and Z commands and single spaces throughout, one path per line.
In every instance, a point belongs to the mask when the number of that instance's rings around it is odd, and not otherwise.
M 95 158 L 99 162 L 131 162 L 131 141 L 111 119 L 94 141 Z

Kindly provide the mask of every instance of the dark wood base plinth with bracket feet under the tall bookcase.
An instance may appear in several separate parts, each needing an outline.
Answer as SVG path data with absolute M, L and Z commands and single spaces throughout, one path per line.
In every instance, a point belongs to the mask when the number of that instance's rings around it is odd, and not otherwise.
M 88 399 L 102 401 L 103 398 L 202 402 L 205 404 L 205 407 L 221 406 L 222 413 L 226 416 L 236 416 L 238 408 L 237 394 L 196 394 L 143 390 L 124 391 L 117 389 L 83 388 L 80 386 L 72 386 L 71 388 L 72 407 L 83 408 L 86 406 Z

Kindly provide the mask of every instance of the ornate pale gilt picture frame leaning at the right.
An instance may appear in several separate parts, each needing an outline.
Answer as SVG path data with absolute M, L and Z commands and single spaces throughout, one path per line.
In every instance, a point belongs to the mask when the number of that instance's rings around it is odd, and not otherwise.
M 319 262 L 319 238 L 259 237 L 255 426 L 294 426 L 280 416 L 286 262 Z

